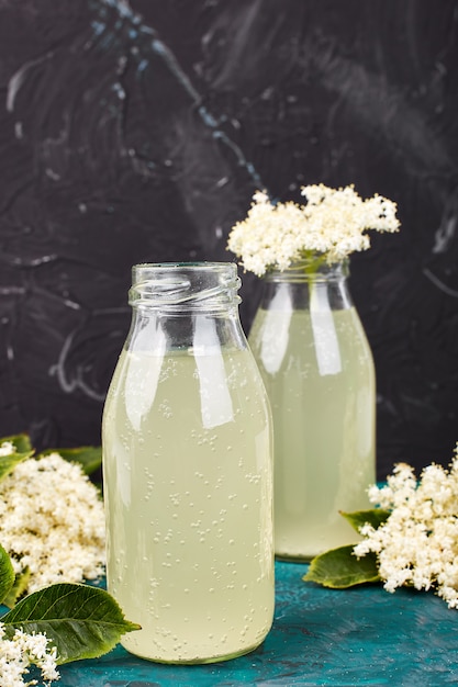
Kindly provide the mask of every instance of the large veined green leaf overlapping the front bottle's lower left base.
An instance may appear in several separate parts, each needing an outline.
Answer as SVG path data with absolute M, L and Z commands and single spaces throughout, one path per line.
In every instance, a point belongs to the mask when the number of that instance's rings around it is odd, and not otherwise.
M 26 596 L 1 618 L 7 637 L 16 628 L 45 632 L 57 647 L 59 664 L 97 658 L 108 653 L 125 632 L 139 630 L 130 622 L 104 589 L 57 584 Z

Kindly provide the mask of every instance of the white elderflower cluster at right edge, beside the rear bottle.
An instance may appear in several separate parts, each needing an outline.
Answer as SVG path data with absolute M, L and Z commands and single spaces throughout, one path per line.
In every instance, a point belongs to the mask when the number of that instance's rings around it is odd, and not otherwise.
M 390 516 L 377 529 L 360 529 L 365 539 L 355 555 L 377 554 L 388 592 L 402 585 L 434 589 L 458 608 L 458 446 L 449 470 L 433 463 L 417 482 L 410 465 L 399 464 L 387 486 L 370 488 L 369 498 Z

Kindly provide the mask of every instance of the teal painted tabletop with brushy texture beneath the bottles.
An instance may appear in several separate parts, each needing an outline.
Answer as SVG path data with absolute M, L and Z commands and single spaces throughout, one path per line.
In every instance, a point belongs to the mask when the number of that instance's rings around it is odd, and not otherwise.
M 458 684 L 458 611 L 429 593 L 380 586 L 344 592 L 302 582 L 277 563 L 277 609 L 262 646 L 202 666 L 159 665 L 121 646 L 62 666 L 58 687 L 440 687 Z

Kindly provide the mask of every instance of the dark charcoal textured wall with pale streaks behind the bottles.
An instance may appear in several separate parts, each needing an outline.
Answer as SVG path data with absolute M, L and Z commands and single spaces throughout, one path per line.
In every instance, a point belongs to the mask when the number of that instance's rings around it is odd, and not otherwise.
M 256 188 L 354 182 L 402 221 L 351 262 L 379 475 L 449 462 L 458 2 L 0 0 L 0 436 L 99 443 L 131 266 L 232 259 Z

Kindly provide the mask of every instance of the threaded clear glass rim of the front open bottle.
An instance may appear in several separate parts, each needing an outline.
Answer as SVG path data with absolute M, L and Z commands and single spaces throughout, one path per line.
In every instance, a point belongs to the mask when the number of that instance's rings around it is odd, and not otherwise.
M 129 302 L 135 307 L 224 309 L 241 302 L 233 262 L 145 262 L 132 268 Z

